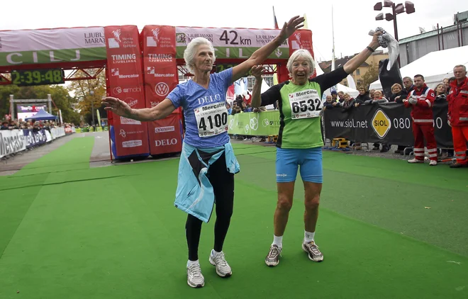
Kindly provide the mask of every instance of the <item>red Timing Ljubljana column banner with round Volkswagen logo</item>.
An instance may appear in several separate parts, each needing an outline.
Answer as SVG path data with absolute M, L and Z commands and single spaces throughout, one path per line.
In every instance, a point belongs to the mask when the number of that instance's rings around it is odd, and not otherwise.
M 163 101 L 179 83 L 175 28 L 145 26 L 140 37 L 143 42 L 146 106 L 152 108 Z M 167 118 L 148 123 L 151 154 L 182 150 L 181 111 L 178 108 Z

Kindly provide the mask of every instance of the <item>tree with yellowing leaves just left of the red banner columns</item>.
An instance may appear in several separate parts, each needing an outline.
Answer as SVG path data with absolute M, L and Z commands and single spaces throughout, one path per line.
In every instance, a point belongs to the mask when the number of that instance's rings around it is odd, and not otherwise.
M 87 70 L 91 74 L 96 74 L 98 69 Z M 81 71 L 78 71 L 74 77 L 84 77 Z M 87 123 L 91 123 L 92 114 L 91 110 L 94 106 L 94 117 L 96 118 L 96 110 L 99 109 L 101 118 L 106 118 L 107 113 L 101 108 L 101 98 L 106 96 L 106 74 L 101 72 L 97 75 L 96 79 L 92 80 L 77 80 L 72 81 L 68 90 L 74 94 L 77 100 L 77 110 L 82 115 Z

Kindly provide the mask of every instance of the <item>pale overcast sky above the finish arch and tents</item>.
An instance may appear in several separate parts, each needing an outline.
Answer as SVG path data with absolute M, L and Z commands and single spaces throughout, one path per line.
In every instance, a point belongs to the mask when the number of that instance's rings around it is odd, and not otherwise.
M 272 6 L 278 23 L 291 16 L 308 18 L 313 33 L 317 60 L 330 60 L 332 55 L 332 5 L 335 25 L 335 51 L 352 55 L 368 45 L 370 29 L 377 26 L 394 35 L 393 22 L 375 21 L 377 0 L 330 1 L 2 1 L 0 30 L 63 28 L 86 26 L 145 25 L 272 28 Z M 398 1 L 396 4 L 404 3 Z M 419 27 L 453 25 L 453 15 L 468 10 L 464 0 L 413 0 L 416 13 L 402 13 L 397 17 L 399 38 L 419 33 Z M 391 9 L 382 9 L 390 13 Z

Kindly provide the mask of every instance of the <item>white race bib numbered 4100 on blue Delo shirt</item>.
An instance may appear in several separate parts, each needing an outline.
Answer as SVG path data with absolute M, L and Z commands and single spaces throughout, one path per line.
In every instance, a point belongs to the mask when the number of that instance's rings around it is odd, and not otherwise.
M 210 137 L 228 131 L 228 109 L 225 103 L 213 103 L 194 109 L 200 137 Z

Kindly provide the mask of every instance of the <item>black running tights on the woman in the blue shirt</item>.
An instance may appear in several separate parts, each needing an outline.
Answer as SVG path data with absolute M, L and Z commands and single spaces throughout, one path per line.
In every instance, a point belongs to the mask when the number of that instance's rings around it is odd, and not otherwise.
M 234 174 L 227 170 L 224 154 L 210 166 L 207 176 L 213 185 L 216 204 L 214 249 L 216 252 L 221 252 L 224 239 L 228 234 L 234 205 Z M 201 223 L 201 220 L 190 214 L 187 217 L 185 234 L 189 246 L 190 261 L 199 259 Z

